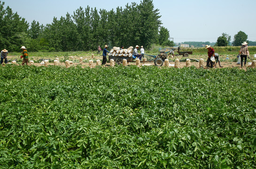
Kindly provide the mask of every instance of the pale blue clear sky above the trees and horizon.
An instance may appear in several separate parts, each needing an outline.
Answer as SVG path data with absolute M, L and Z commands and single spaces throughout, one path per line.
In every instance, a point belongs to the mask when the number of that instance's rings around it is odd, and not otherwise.
M 116 9 L 141 0 L 1 0 L 5 8 L 25 18 L 46 25 L 54 16 L 59 19 L 73 14 L 79 7 Z M 234 35 L 243 31 L 248 40 L 256 41 L 256 0 L 153 0 L 159 9 L 163 27 L 170 32 L 175 43 L 185 41 L 216 42 L 222 33 L 233 41 Z M 140 21 L 135 21 L 140 23 Z

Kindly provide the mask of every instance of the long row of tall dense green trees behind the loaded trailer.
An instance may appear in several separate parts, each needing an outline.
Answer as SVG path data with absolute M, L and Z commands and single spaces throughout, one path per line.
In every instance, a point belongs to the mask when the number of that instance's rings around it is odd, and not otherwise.
M 88 51 L 98 46 L 145 46 L 169 45 L 169 31 L 161 26 L 159 10 L 153 0 L 141 0 L 140 4 L 127 3 L 107 11 L 97 8 L 78 8 L 51 24 L 31 24 L 12 9 L 4 9 L 0 1 L 0 46 L 9 51 L 18 51 L 26 46 L 34 51 Z

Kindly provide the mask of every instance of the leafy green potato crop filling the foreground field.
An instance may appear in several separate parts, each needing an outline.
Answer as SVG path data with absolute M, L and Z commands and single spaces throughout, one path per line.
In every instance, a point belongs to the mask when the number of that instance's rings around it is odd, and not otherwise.
M 256 69 L 0 72 L 0 169 L 256 168 Z

